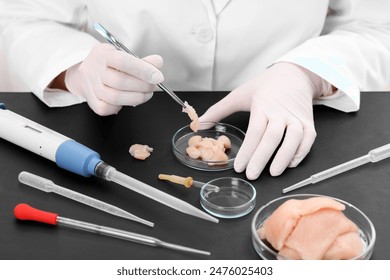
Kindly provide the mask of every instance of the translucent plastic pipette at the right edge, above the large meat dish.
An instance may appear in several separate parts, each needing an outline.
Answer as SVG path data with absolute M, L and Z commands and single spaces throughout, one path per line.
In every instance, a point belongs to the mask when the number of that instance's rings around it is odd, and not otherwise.
M 356 168 L 358 166 L 361 166 L 363 164 L 369 163 L 369 162 L 378 162 L 385 158 L 390 157 L 390 144 L 381 146 L 379 148 L 376 148 L 374 150 L 371 150 L 368 152 L 368 154 L 358 157 L 356 159 L 347 161 L 345 163 L 336 165 L 332 168 L 329 168 L 327 170 L 324 170 L 322 172 L 316 173 L 314 175 L 311 175 L 309 178 L 292 185 L 288 188 L 283 189 L 283 193 L 290 192 L 292 190 L 296 190 L 299 188 L 302 188 L 309 184 L 315 184 L 322 180 L 328 179 L 330 177 L 336 176 L 340 173 L 346 172 L 348 170 L 351 170 L 353 168 Z

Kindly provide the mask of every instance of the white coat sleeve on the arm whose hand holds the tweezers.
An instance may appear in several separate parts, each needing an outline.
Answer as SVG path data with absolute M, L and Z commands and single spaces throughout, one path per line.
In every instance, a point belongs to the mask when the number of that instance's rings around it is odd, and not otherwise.
M 12 72 L 49 106 L 84 101 L 48 89 L 51 81 L 81 62 L 97 40 L 82 32 L 88 24 L 83 1 L 0 0 L 0 28 Z

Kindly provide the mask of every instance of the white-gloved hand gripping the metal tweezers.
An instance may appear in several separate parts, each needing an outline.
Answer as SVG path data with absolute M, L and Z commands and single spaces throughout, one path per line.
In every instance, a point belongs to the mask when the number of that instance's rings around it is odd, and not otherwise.
M 85 60 L 65 73 L 65 85 L 83 96 L 99 115 L 116 114 L 122 106 L 136 106 L 153 96 L 164 80 L 158 55 L 138 59 L 109 44 L 97 44 Z

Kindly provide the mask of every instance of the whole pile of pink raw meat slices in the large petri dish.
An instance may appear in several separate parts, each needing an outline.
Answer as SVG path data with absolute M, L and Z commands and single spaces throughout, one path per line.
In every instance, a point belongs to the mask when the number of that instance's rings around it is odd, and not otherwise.
M 363 252 L 363 242 L 344 209 L 327 197 L 290 199 L 267 218 L 258 234 L 280 258 L 352 259 Z

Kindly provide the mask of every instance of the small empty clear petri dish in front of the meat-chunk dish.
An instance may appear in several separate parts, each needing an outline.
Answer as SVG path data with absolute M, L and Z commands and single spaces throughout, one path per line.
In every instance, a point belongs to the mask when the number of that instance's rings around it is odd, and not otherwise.
M 200 204 L 213 216 L 239 218 L 255 208 L 256 190 L 252 184 L 240 178 L 217 178 L 200 190 Z

